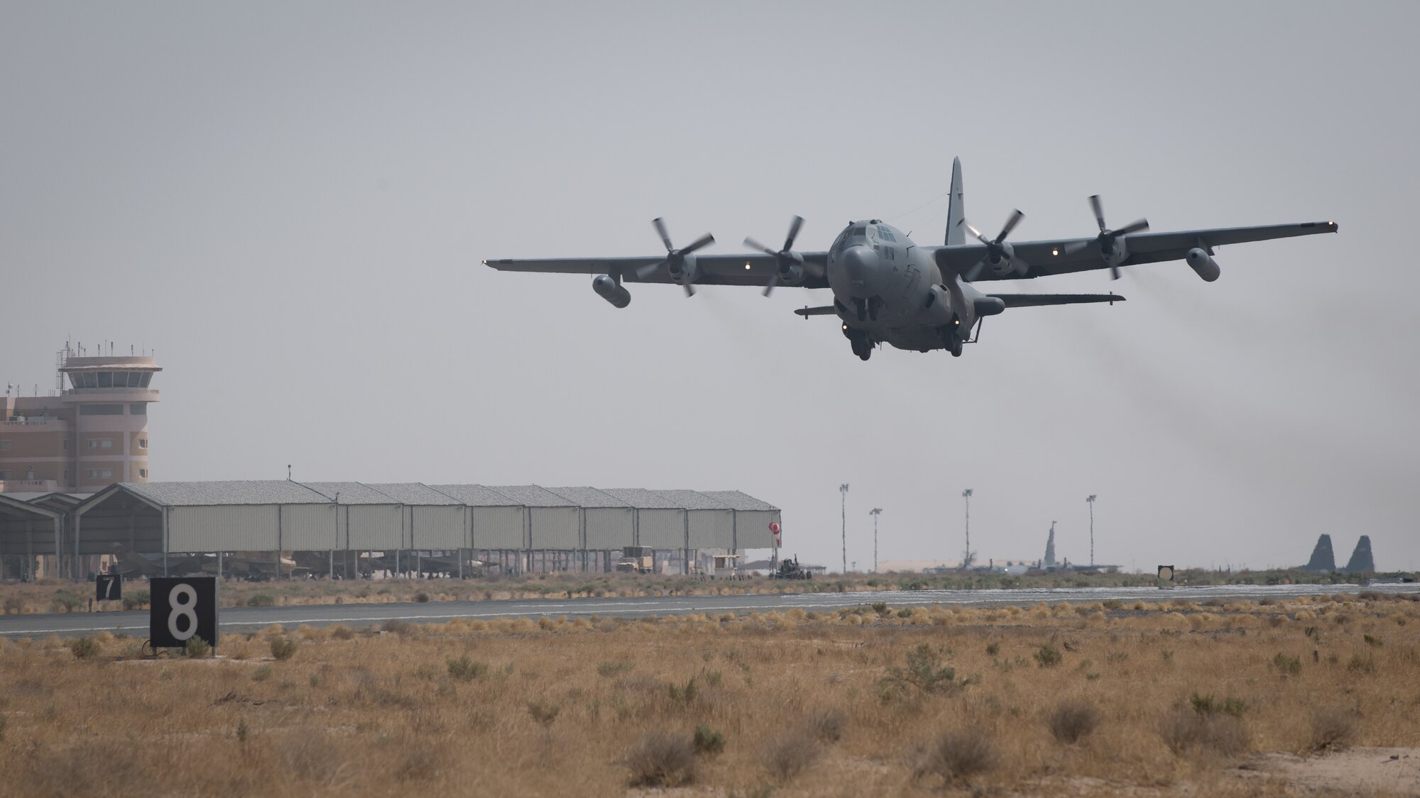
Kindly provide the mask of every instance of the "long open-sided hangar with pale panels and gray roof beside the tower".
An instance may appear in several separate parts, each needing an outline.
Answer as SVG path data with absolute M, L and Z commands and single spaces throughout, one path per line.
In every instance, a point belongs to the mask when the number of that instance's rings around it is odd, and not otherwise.
M 118 483 L 62 513 L 33 510 L 6 504 L 0 551 L 82 558 L 126 550 L 159 569 L 178 555 L 216 552 L 264 552 L 280 569 L 291 559 L 274 552 L 315 552 L 302 564 L 329 562 L 337 575 L 355 575 L 376 555 L 408 567 L 449 554 L 504 572 L 609 571 L 626 545 L 652 547 L 689 571 L 700 552 L 770 548 L 768 525 L 780 521 L 777 507 L 738 491 L 291 480 Z

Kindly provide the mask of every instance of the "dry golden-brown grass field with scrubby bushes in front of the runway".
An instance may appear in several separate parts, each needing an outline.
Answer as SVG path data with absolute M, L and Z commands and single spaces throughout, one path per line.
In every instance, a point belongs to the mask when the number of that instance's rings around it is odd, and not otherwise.
M 0 640 L 0 794 L 1414 795 L 1410 598 Z

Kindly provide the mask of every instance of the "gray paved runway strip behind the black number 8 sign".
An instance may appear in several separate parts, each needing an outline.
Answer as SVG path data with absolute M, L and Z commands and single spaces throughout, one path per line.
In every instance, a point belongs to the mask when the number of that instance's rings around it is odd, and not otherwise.
M 454 618 L 540 618 L 601 615 L 612 618 L 640 618 L 648 615 L 750 613 L 804 611 L 835 611 L 875 602 L 888 605 L 966 605 L 966 606 L 1028 606 L 1038 602 L 1096 602 L 1106 599 L 1162 602 L 1173 599 L 1262 599 L 1305 595 L 1355 594 L 1359 591 L 1383 594 L 1414 594 L 1420 585 L 1206 585 L 1184 588 L 1031 588 L 994 591 L 868 591 L 794 595 L 738 596 L 639 596 L 589 599 L 530 599 L 530 601 L 456 601 L 432 603 L 332 603 L 314 606 L 241 606 L 224 608 L 219 626 L 224 632 L 251 632 L 273 623 L 287 628 L 373 626 L 386 621 L 439 623 Z M 47 635 L 75 636 L 99 632 L 122 632 L 139 636 L 148 632 L 148 611 L 75 612 L 55 615 L 0 616 L 0 636 L 36 638 Z

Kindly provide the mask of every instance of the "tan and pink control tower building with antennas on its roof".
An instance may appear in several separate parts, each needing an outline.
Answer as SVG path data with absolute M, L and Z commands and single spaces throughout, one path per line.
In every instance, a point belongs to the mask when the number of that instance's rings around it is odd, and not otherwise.
M 7 390 L 0 405 L 0 493 L 148 481 L 148 405 L 162 369 L 151 356 L 81 356 L 68 346 L 58 361 L 55 395 Z

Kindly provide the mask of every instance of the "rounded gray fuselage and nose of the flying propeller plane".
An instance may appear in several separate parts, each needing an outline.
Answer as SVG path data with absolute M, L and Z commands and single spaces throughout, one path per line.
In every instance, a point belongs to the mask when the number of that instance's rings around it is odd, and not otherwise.
M 899 349 L 950 348 L 951 335 L 966 338 L 977 307 L 990 302 L 956 275 L 943 280 L 930 253 L 876 219 L 853 222 L 834 240 L 828 285 L 845 335 Z

